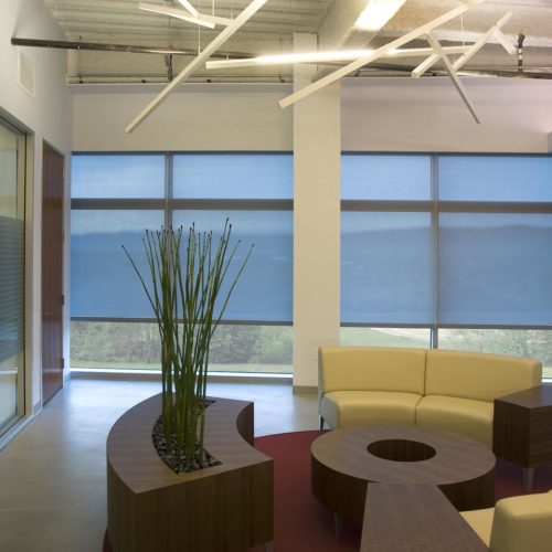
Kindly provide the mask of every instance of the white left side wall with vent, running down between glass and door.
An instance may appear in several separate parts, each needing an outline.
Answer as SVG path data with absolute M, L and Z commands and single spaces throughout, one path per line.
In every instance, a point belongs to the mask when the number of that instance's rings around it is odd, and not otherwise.
M 41 406 L 41 181 L 42 144 L 47 141 L 60 152 L 71 153 L 71 94 L 65 82 L 65 53 L 63 51 L 23 49 L 35 66 L 35 97 L 18 85 L 19 47 L 12 46 L 12 36 L 34 39 L 63 39 L 63 34 L 41 0 L 10 0 L 0 7 L 0 115 L 22 127 L 28 140 L 26 235 L 28 270 L 28 394 L 26 415 Z M 66 203 L 68 205 L 68 202 Z M 67 216 L 68 221 L 68 216 Z M 66 255 L 68 261 L 68 255 Z M 65 276 L 68 284 L 68 264 Z M 68 331 L 68 306 L 65 311 Z M 68 336 L 68 333 L 67 333 Z M 64 352 L 68 353 L 65 337 Z

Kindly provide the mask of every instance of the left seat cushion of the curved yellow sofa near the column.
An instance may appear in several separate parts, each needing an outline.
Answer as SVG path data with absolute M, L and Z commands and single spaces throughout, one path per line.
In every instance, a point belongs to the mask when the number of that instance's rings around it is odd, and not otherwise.
M 331 427 L 364 424 L 414 424 L 421 395 L 385 391 L 332 391 L 320 402 L 320 416 Z

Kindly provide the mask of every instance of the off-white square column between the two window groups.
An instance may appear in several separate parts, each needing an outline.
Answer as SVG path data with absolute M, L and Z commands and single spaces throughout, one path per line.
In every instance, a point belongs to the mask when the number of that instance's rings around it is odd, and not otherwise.
M 317 36 L 295 34 L 296 52 Z M 297 65 L 295 89 L 316 66 Z M 318 385 L 318 347 L 339 343 L 341 94 L 335 83 L 294 109 L 294 391 Z

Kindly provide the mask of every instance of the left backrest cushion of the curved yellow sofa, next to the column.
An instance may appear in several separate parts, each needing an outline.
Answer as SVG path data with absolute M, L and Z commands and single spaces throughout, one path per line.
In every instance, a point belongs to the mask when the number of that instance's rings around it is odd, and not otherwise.
M 424 394 L 425 350 L 321 347 L 319 394 L 331 391 L 402 391 Z

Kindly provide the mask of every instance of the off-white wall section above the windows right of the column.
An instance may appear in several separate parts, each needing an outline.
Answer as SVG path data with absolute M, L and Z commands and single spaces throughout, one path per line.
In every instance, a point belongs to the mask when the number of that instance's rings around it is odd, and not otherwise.
M 465 78 L 477 125 L 448 77 L 348 78 L 344 151 L 546 152 L 552 81 Z

